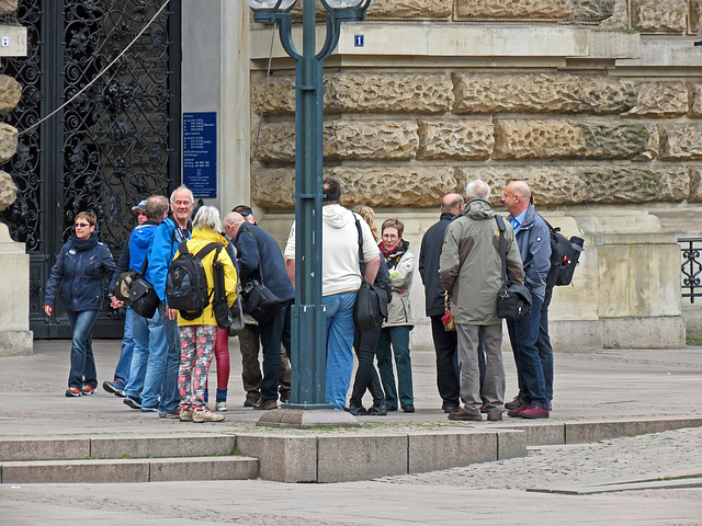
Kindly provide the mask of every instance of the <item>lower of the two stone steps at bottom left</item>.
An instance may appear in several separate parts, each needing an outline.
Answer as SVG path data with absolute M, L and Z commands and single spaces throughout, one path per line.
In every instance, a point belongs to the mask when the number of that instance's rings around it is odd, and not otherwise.
M 0 462 L 0 482 L 157 482 L 246 480 L 259 474 L 251 457 L 29 460 Z

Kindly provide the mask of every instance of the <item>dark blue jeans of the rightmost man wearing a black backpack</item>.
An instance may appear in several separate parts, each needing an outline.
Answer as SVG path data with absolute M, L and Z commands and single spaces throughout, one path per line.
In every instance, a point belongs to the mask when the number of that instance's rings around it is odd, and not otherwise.
M 507 320 L 507 329 L 512 343 L 522 401 L 548 409 L 544 368 L 536 348 L 542 302 L 543 299 L 532 296 L 529 315 L 517 320 Z

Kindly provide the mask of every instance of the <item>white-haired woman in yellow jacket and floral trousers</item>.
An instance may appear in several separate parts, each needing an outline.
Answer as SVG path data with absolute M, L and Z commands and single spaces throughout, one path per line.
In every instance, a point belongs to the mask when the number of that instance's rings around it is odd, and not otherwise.
M 207 290 L 212 294 L 214 281 L 212 263 L 215 254 L 224 265 L 224 283 L 229 307 L 236 299 L 237 273 L 231 258 L 226 250 L 227 240 L 220 233 L 224 231 L 219 211 L 214 206 L 202 206 L 193 220 L 193 236 L 188 241 L 188 250 L 195 254 L 208 243 L 216 242 L 225 245 L 217 254 L 213 250 L 202 259 L 202 266 L 207 275 Z M 176 253 L 176 258 L 178 258 Z M 207 373 L 214 354 L 217 338 L 217 320 L 210 304 L 199 318 L 184 319 L 178 313 L 180 328 L 180 370 L 178 374 L 178 389 L 180 391 L 180 420 L 183 422 L 220 422 L 224 415 L 213 413 L 204 401 L 207 385 Z

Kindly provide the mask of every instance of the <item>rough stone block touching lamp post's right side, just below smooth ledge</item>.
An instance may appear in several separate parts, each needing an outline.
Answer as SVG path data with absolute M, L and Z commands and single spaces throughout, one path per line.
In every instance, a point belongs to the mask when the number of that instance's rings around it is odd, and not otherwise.
M 328 113 L 440 113 L 453 106 L 446 75 L 338 73 L 326 77 Z

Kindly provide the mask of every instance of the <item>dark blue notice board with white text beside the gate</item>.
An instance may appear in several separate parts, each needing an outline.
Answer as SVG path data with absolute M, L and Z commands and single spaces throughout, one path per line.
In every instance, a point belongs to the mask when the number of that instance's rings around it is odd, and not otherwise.
M 183 184 L 195 197 L 217 196 L 217 114 L 183 113 Z

